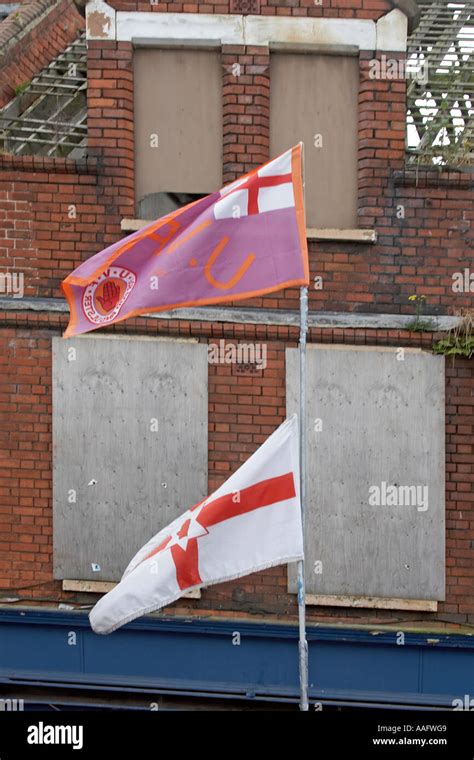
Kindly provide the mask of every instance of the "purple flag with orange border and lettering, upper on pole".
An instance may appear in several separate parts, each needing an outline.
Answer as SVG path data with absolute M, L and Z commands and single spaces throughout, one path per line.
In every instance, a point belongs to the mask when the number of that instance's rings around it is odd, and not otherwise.
M 62 283 L 64 337 L 308 285 L 301 151 L 291 148 L 84 261 Z

